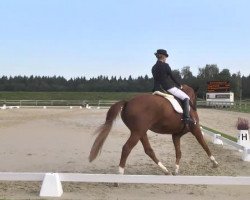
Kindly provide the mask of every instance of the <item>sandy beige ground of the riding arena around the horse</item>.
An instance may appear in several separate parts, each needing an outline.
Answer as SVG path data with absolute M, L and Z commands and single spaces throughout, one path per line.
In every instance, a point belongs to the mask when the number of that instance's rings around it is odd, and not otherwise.
M 250 114 L 199 109 L 203 125 L 236 136 L 238 117 L 250 120 Z M 121 148 L 129 131 L 118 118 L 104 144 L 101 156 L 93 163 L 88 154 L 93 132 L 104 122 L 106 109 L 0 110 L 0 172 L 65 172 L 115 174 Z M 170 135 L 148 132 L 156 155 L 170 170 L 175 168 L 175 151 Z M 250 176 L 250 162 L 229 146 L 214 145 L 207 138 L 219 162 L 212 168 L 205 151 L 189 133 L 181 139 L 180 175 Z M 163 175 L 144 153 L 140 143 L 132 150 L 125 174 Z M 1 182 L 0 199 L 41 199 L 41 182 Z M 250 186 L 158 185 L 111 183 L 63 183 L 59 199 L 249 199 Z

